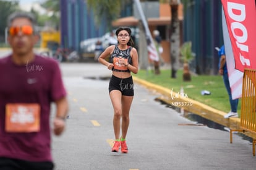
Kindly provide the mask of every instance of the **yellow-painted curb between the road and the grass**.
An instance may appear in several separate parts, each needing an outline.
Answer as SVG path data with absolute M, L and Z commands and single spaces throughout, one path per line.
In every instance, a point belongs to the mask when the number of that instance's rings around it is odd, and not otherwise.
M 138 77 L 133 76 L 133 80 L 136 83 L 139 83 L 143 87 L 146 87 L 151 90 L 155 90 L 156 92 L 160 93 L 161 96 L 159 97 L 160 100 L 164 101 L 165 103 L 172 106 L 177 103 L 186 103 L 186 106 L 179 106 L 179 104 L 176 104 L 179 108 L 184 108 L 184 110 L 197 114 L 198 116 L 204 117 L 205 119 L 209 119 L 213 122 L 216 122 L 218 124 L 224 125 L 226 127 L 229 127 L 230 129 L 241 129 L 240 128 L 240 121 L 241 119 L 239 117 L 231 117 L 229 119 L 225 119 L 223 116 L 226 114 L 223 111 L 220 111 L 215 108 L 211 108 L 210 106 L 207 106 L 206 104 L 200 103 L 198 101 L 192 100 L 190 98 L 184 97 L 179 95 L 179 93 L 176 93 L 168 88 L 161 87 L 160 85 L 155 85 L 153 83 L 147 82 L 145 80 L 139 79 Z M 172 95 L 176 96 L 176 98 L 172 98 Z M 187 104 L 189 103 L 189 104 Z M 192 106 L 190 104 L 192 103 Z M 180 104 L 182 105 L 182 104 Z M 256 137 L 256 135 L 246 132 L 245 135 L 249 137 Z

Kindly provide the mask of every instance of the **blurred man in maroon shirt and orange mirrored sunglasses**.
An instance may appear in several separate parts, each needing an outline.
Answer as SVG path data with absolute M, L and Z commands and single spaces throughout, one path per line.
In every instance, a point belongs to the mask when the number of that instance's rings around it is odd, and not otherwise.
M 12 54 L 0 59 L 0 169 L 53 169 L 50 104 L 56 104 L 53 132 L 65 128 L 68 103 L 58 62 L 37 56 L 39 39 L 31 14 L 8 18 Z

